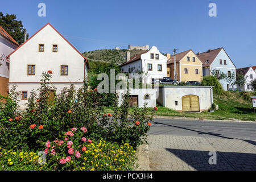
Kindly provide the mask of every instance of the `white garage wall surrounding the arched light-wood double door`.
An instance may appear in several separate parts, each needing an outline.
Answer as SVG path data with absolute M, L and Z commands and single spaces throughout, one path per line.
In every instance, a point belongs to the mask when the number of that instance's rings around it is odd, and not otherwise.
M 182 111 L 182 97 L 187 95 L 199 97 L 200 111 L 210 109 L 213 103 L 211 86 L 163 86 L 159 92 L 158 103 L 178 111 Z M 178 101 L 177 106 L 175 101 Z

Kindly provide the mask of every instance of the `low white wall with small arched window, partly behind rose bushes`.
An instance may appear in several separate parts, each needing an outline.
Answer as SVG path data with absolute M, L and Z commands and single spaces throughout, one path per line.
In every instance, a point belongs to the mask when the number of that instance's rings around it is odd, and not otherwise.
M 125 89 L 115 90 L 119 96 L 118 106 L 122 104 L 122 95 L 126 93 Z M 129 93 L 138 96 L 138 107 L 143 107 L 144 103 L 147 102 L 146 107 L 155 107 L 156 106 L 156 89 L 130 89 Z M 150 94 L 150 100 L 144 100 L 144 96 Z

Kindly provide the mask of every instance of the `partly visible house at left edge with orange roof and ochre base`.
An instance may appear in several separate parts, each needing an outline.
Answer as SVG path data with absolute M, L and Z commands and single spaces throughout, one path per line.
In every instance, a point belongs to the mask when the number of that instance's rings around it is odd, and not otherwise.
M 9 82 L 9 60 L 6 56 L 19 44 L 0 26 L 0 95 L 7 96 Z

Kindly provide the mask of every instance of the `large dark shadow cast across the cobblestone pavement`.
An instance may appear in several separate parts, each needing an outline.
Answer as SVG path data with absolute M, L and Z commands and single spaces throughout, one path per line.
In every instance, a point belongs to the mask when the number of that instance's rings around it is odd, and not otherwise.
M 166 150 L 198 171 L 256 170 L 256 154 L 216 152 L 216 164 L 209 164 L 209 158 L 212 157 L 212 155 L 209 155 L 209 151 L 179 150 L 172 148 L 166 148 Z

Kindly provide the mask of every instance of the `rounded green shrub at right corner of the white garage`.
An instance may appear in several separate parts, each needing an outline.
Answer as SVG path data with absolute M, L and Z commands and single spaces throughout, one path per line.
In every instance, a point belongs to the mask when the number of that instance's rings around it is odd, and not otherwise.
M 203 80 L 201 81 L 201 85 L 203 86 L 214 86 L 213 93 L 217 95 L 222 95 L 224 93 L 224 90 L 222 88 L 222 85 L 220 82 L 218 82 L 218 79 L 215 76 L 204 76 Z

